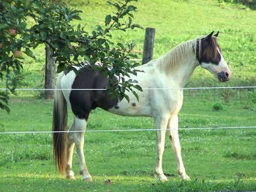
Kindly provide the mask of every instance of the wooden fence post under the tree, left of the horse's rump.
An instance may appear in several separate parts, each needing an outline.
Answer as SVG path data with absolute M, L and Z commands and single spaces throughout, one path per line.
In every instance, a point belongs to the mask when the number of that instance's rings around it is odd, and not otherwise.
M 46 44 L 46 77 L 45 77 L 45 85 L 46 89 L 54 89 L 55 88 L 55 57 L 52 56 L 53 51 Z M 54 91 L 46 90 L 46 99 L 53 99 Z

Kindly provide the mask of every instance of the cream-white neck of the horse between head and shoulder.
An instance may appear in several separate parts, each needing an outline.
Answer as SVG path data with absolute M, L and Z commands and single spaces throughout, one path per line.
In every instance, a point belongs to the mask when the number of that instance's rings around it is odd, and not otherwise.
M 177 47 L 159 59 L 161 73 L 166 74 L 168 80 L 175 84 L 173 86 L 177 87 L 184 87 L 198 66 L 192 43 L 191 49 L 184 50 L 185 47 Z

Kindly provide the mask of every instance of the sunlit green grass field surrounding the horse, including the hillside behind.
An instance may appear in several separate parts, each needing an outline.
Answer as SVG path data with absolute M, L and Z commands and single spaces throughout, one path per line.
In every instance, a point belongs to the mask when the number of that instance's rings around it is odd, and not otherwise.
M 105 15 L 112 12 L 105 1 L 72 1 L 72 5 L 84 11 L 82 22 L 87 23 L 88 30 L 90 26 L 103 24 Z M 220 31 L 218 39 L 233 72 L 232 79 L 220 84 L 209 72 L 198 68 L 187 87 L 255 86 L 255 11 L 201 0 L 144 0 L 135 5 L 138 7 L 135 22 L 156 28 L 155 59 L 185 40 Z M 114 34 L 115 41 L 135 41 L 138 50 L 142 50 L 143 39 L 143 30 Z M 36 49 L 35 55 L 36 61 L 25 60 L 19 87 L 43 87 L 43 47 Z M 52 102 L 40 99 L 40 91 L 17 91 L 17 94 L 10 99 L 11 113 L 0 111 L 0 132 L 50 131 Z M 180 128 L 256 125 L 254 89 L 185 90 L 184 94 Z M 127 118 L 100 109 L 92 112 L 88 123 L 88 130 L 145 128 L 154 128 L 152 119 Z M 56 171 L 50 133 L 1 134 L 0 191 L 256 190 L 255 128 L 180 130 L 179 135 L 190 182 L 177 177 L 168 140 L 163 169 L 169 180 L 163 183 L 155 180 L 152 175 L 155 132 L 140 131 L 85 133 L 86 162 L 94 180 L 85 183 L 78 174 L 76 154 L 73 162 L 76 180 L 63 180 Z M 110 185 L 106 180 L 111 180 Z

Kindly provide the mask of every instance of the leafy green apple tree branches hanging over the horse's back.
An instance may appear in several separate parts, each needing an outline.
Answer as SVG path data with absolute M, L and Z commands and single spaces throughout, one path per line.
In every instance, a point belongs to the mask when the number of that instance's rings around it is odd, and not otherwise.
M 6 91 L 0 93 L 0 108 L 9 111 L 7 106 L 8 93 L 15 91 L 16 80 L 23 68 L 22 53 L 35 58 L 31 48 L 39 44 L 47 44 L 56 58 L 57 72 L 75 70 L 74 65 L 80 65 L 80 58 L 90 62 L 94 70 L 101 70 L 110 78 L 110 86 L 107 87 L 112 95 L 118 95 L 129 100 L 125 91 L 141 90 L 134 85 L 133 80 L 124 81 L 124 76 L 137 74 L 134 66 L 139 65 L 130 60 L 136 57 L 131 50 L 134 43 L 127 45 L 113 43 L 112 31 L 141 28 L 133 24 L 133 11 L 137 8 L 130 5 L 137 0 L 125 0 L 123 2 L 107 3 L 114 7 L 115 14 L 106 15 L 105 26 L 96 26 L 89 33 L 80 24 L 71 25 L 73 19 L 81 20 L 79 14 L 82 11 L 74 10 L 67 5 L 52 4 L 46 1 L 5 0 L 0 1 L 0 79 L 6 82 Z M 28 19 L 33 19 L 34 24 L 28 27 Z M 102 66 L 95 65 L 99 61 Z M 116 76 L 122 81 L 116 81 Z

